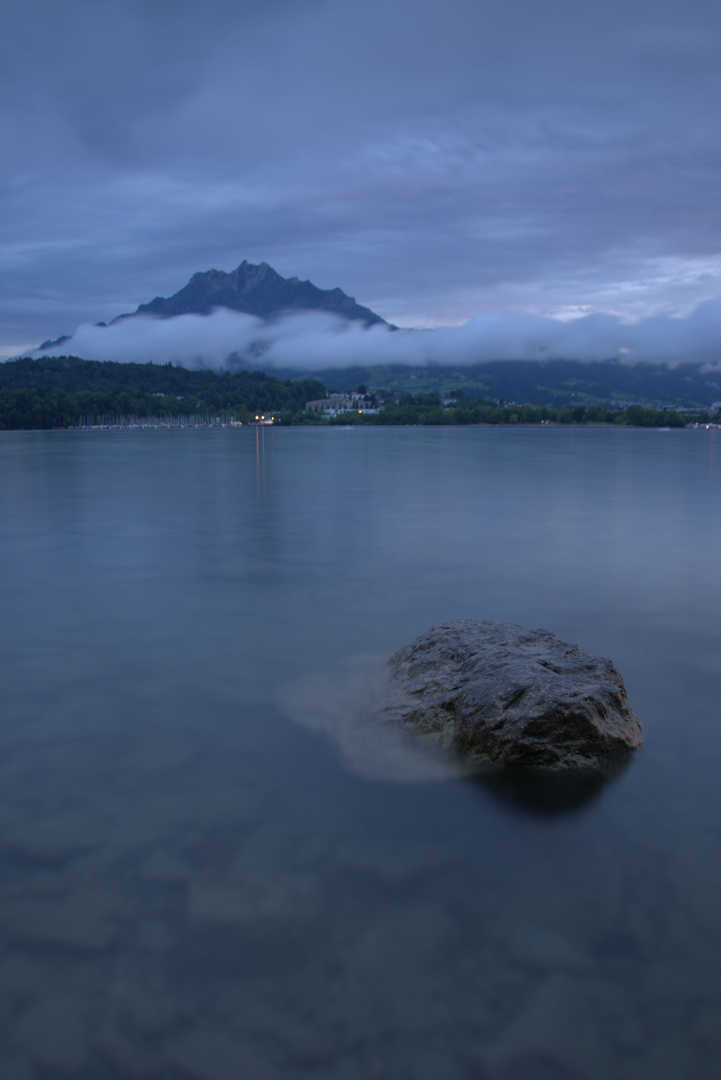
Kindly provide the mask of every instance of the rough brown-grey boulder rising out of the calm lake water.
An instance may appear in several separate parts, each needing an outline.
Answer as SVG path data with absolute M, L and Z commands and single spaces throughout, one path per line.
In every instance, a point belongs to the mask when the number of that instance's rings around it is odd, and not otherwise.
M 446 622 L 396 652 L 390 666 L 375 718 L 479 762 L 596 769 L 641 743 L 611 661 L 547 630 Z

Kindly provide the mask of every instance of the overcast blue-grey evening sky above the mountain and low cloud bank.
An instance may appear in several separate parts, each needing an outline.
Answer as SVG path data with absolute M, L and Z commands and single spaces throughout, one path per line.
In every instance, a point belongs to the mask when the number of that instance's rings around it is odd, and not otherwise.
M 403 326 L 721 297 L 718 0 L 5 0 L 1 22 L 0 354 L 244 258 Z

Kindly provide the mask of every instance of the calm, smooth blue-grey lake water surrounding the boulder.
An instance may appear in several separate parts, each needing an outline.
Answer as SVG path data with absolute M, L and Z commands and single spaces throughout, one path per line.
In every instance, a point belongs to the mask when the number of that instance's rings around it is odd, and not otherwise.
M 3 1080 L 715 1075 L 715 438 L 0 433 Z M 610 656 L 631 766 L 541 812 L 281 714 L 449 618 Z

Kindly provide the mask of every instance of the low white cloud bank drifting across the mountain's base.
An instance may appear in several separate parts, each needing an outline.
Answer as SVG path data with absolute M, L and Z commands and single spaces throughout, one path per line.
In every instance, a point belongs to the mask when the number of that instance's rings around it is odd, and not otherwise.
M 721 300 L 683 318 L 625 323 L 615 315 L 572 322 L 522 313 L 479 314 L 459 327 L 395 330 L 301 312 L 266 323 L 219 308 L 209 315 L 133 316 L 112 326 L 80 326 L 40 355 L 87 360 L 172 361 L 219 368 L 229 357 L 250 365 L 314 370 L 360 364 L 474 364 L 489 360 L 657 361 L 721 364 Z

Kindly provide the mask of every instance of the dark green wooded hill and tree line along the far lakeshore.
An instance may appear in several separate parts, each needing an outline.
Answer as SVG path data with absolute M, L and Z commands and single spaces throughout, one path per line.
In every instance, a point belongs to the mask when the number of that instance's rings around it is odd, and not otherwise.
M 365 391 L 365 387 L 359 387 Z M 69 428 L 137 421 L 247 423 L 257 415 L 280 424 L 515 424 L 618 423 L 682 428 L 721 421 L 707 411 L 629 405 L 552 407 L 506 404 L 454 392 L 445 406 L 436 392 L 367 395 L 378 413 L 349 411 L 326 418 L 304 411 L 327 395 L 317 379 L 280 380 L 261 372 L 193 372 L 173 364 L 119 364 L 77 356 L 16 360 L 0 364 L 0 430 Z

